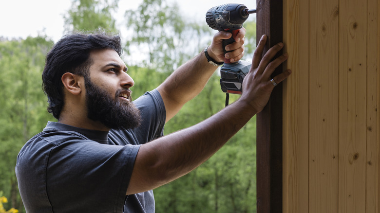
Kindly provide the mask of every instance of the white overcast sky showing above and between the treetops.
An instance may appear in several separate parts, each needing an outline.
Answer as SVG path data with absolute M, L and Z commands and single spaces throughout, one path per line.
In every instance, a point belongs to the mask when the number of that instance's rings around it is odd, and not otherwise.
M 205 15 L 209 8 L 225 3 L 242 3 L 248 9 L 256 8 L 256 0 L 167 0 L 176 1 L 187 18 L 196 18 L 206 24 Z M 142 0 L 119 0 L 116 17 L 122 24 L 124 11 L 137 8 Z M 3 0 L 0 7 L 0 37 L 26 38 L 46 34 L 57 41 L 64 32 L 63 14 L 71 6 L 71 0 Z M 252 15 L 251 15 L 252 16 Z

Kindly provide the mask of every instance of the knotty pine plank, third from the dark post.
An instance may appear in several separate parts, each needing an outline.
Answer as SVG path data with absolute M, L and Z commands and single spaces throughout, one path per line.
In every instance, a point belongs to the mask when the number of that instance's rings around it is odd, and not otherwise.
M 339 213 L 365 212 L 367 1 L 340 0 Z

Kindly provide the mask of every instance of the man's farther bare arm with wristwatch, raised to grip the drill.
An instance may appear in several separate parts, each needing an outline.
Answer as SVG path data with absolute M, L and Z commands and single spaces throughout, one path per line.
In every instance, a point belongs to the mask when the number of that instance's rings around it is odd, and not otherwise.
M 245 28 L 240 29 L 236 35 L 236 42 L 228 45 L 226 48 L 233 50 L 227 54 L 227 58 L 238 61 L 244 54 L 244 35 Z M 208 53 L 211 58 L 218 62 L 224 61 L 222 49 L 222 39 L 231 36 L 228 32 L 219 32 L 215 34 Z M 182 106 L 198 95 L 205 87 L 209 78 L 217 69 L 211 65 L 202 51 L 193 59 L 174 71 L 158 88 L 164 101 L 166 109 L 166 121 L 169 121 Z

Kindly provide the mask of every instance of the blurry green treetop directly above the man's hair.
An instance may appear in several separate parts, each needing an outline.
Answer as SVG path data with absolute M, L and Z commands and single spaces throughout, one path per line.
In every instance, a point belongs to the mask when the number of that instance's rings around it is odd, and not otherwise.
M 72 0 L 64 16 L 66 31 L 94 31 L 99 28 L 117 33 L 114 14 L 119 0 Z

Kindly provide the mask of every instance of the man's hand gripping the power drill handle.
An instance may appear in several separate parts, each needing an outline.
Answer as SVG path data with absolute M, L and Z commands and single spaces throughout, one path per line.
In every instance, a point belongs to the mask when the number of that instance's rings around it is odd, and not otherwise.
M 224 57 L 230 59 L 230 62 L 239 61 L 244 55 L 244 41 L 246 39 L 244 37 L 245 35 L 246 28 L 243 27 L 239 29 L 239 32 L 235 37 L 235 42 L 226 46 L 226 50 L 232 52 L 226 53 L 226 55 L 224 55 L 222 44 L 223 39 L 230 38 L 232 34 L 225 31 L 220 31 L 216 33 L 208 49 L 209 56 L 218 62 L 224 61 Z

